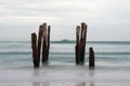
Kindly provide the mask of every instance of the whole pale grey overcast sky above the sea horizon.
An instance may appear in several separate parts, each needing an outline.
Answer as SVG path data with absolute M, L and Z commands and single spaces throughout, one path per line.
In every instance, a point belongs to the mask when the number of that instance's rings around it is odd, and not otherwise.
M 0 40 L 30 40 L 51 25 L 51 40 L 75 40 L 88 25 L 89 41 L 130 41 L 130 0 L 0 0 Z

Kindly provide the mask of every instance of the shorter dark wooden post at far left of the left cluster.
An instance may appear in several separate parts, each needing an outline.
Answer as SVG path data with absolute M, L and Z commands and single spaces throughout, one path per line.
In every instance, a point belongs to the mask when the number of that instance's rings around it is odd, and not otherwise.
M 39 58 L 38 58 L 38 49 L 37 49 L 37 35 L 36 33 L 31 33 L 31 48 L 32 48 L 32 62 L 34 68 L 39 68 Z

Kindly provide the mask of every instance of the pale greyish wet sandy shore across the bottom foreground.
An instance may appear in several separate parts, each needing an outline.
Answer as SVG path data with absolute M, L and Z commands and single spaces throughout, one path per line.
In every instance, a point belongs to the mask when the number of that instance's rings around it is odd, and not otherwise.
M 40 69 L 0 69 L 0 86 L 130 86 L 127 68 L 46 66 Z

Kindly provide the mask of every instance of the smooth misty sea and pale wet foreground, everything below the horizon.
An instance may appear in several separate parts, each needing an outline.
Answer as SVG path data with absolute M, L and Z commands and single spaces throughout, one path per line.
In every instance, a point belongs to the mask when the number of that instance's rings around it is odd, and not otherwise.
M 75 64 L 75 42 L 52 42 L 49 66 L 34 69 L 31 58 L 30 42 L 0 41 L 0 86 L 130 86 L 130 42 L 88 42 L 84 66 Z

